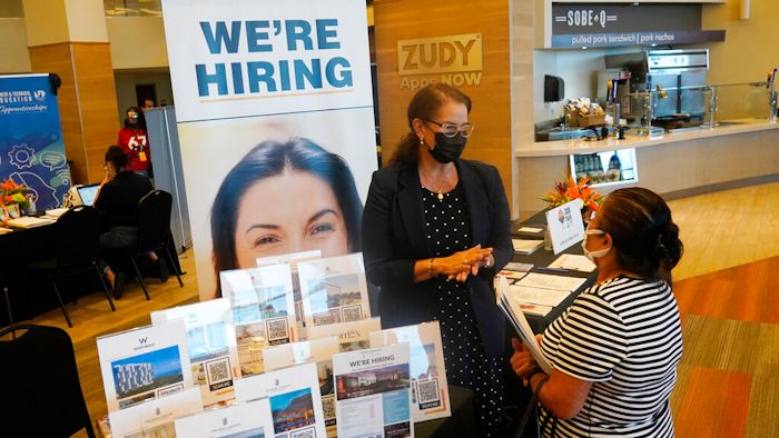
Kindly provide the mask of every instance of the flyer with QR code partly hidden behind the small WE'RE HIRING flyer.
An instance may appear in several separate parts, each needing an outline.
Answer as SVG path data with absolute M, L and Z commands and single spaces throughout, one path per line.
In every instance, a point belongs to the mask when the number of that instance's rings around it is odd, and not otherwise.
M 369 337 L 371 347 L 408 342 L 414 422 L 452 415 L 438 321 L 374 331 Z

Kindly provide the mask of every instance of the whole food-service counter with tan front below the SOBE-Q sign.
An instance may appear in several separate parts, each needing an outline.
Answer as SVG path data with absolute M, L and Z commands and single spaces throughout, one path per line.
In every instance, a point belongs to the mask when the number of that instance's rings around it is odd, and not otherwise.
M 524 219 L 545 207 L 538 199 L 570 172 L 569 156 L 635 148 L 639 182 L 604 187 L 608 193 L 641 186 L 667 200 L 779 181 L 779 123 L 742 119 L 714 129 L 662 136 L 559 140 L 514 150 L 514 211 Z

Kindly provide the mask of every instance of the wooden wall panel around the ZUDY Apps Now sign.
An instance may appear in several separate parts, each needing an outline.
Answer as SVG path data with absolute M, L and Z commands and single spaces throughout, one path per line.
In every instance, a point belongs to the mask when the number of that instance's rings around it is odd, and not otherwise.
M 406 109 L 416 90 L 401 89 L 397 41 L 417 38 L 481 33 L 482 81 L 460 89 L 473 101 L 469 121 L 476 129 L 463 157 L 493 165 L 512 200 L 511 32 L 509 0 L 450 2 L 445 0 L 376 0 L 374 6 L 378 108 L 382 158 L 387 162 L 401 138 L 408 132 Z M 410 79 L 440 78 L 420 74 Z

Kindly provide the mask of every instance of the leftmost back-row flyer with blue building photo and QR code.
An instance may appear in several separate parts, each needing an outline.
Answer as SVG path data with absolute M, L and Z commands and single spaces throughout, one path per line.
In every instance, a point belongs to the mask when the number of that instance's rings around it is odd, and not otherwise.
M 221 271 L 233 309 L 241 376 L 264 372 L 263 348 L 297 340 L 288 263 Z

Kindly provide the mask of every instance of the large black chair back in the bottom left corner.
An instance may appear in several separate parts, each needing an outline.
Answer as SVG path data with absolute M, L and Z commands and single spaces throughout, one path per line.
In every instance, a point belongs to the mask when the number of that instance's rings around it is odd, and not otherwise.
M 59 438 L 87 428 L 95 438 L 70 336 L 21 325 L 0 330 L 0 338 L 9 334 L 13 339 L 0 340 L 0 411 L 8 419 L 2 436 Z

